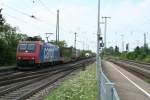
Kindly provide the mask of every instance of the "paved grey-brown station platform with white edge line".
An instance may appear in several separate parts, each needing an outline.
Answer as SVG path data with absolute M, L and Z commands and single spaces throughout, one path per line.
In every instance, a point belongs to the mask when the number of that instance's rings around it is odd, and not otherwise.
M 120 100 L 150 100 L 150 84 L 108 61 L 102 61 L 102 69 L 115 83 Z

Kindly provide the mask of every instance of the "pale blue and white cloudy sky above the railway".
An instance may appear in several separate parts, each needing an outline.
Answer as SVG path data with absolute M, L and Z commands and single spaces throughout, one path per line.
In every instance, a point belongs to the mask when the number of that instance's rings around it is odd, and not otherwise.
M 53 33 L 55 40 L 56 12 L 60 10 L 60 40 L 74 45 L 77 32 L 77 48 L 96 50 L 98 0 L 0 0 L 0 8 L 7 23 L 18 27 L 18 32 L 29 36 Z M 107 47 L 119 46 L 122 50 L 129 43 L 132 51 L 144 43 L 146 33 L 150 44 L 150 0 L 101 0 L 101 17 L 107 21 Z M 36 19 L 29 16 L 34 15 Z M 100 19 L 104 22 L 104 19 Z M 101 24 L 102 35 L 104 24 Z M 125 46 L 124 46 L 125 49 Z

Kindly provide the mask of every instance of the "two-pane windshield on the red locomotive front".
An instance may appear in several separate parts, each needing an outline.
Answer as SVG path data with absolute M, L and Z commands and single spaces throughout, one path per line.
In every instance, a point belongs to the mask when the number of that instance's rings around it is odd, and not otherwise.
M 33 43 L 21 43 L 19 44 L 19 48 L 18 48 L 19 51 L 21 52 L 34 52 L 35 50 L 35 44 Z

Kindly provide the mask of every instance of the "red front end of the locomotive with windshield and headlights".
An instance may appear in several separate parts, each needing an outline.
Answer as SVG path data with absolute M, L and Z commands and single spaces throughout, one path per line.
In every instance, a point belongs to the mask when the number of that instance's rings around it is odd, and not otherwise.
M 37 42 L 24 41 L 18 44 L 17 53 L 16 53 L 16 61 L 17 66 L 34 66 L 38 63 L 38 44 Z

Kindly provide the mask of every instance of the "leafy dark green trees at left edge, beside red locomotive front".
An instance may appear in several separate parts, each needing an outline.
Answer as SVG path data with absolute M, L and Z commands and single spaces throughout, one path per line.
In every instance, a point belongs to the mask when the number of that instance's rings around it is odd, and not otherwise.
M 17 44 L 27 37 L 24 34 L 17 34 L 16 27 L 5 22 L 0 9 L 0 65 L 15 63 Z

